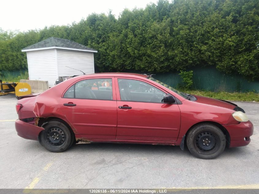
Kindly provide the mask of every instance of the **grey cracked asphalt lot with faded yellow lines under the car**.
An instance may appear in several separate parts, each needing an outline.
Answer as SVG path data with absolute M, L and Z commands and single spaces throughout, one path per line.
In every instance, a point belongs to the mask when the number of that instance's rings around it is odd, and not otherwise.
M 51 153 L 17 135 L 16 102 L 0 96 L 0 188 L 259 188 L 257 102 L 234 102 L 254 124 L 251 143 L 213 160 L 160 145 L 76 144 Z

